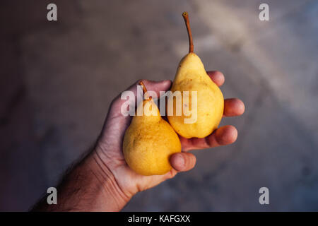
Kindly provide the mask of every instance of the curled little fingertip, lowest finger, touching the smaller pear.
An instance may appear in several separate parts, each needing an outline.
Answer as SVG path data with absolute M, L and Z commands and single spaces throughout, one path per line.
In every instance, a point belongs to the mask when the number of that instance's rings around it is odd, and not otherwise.
M 179 171 L 188 171 L 196 165 L 196 157 L 192 153 L 175 153 L 170 157 L 171 166 Z

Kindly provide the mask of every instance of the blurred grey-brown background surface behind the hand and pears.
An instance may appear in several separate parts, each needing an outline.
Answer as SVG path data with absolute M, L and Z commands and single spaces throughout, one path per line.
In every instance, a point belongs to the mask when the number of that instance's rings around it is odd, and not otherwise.
M 47 21 L 47 4 L 58 21 Z M 259 5 L 269 4 L 269 21 Z M 318 210 L 318 1 L 0 3 L 0 210 L 28 210 L 95 142 L 111 100 L 173 79 L 194 51 L 240 97 L 237 142 L 134 196 L 126 211 Z M 269 205 L 259 188 L 269 188 Z

